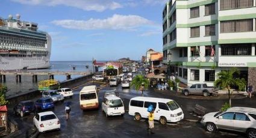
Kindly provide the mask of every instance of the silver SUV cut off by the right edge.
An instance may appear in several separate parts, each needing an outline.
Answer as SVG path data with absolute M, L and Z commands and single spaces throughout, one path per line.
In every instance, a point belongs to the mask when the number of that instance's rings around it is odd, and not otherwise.
M 225 112 L 211 112 L 204 115 L 201 123 L 210 132 L 231 130 L 246 133 L 256 138 L 256 109 L 249 107 L 231 107 Z

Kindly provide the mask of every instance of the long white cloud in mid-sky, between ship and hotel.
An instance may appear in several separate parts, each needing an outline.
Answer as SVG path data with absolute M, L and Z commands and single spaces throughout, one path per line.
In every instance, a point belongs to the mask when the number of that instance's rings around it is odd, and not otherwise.
M 89 19 L 89 20 L 54 20 L 51 23 L 68 29 L 122 29 L 134 30 L 139 26 L 154 25 L 148 19 L 136 15 L 114 14 L 107 19 Z

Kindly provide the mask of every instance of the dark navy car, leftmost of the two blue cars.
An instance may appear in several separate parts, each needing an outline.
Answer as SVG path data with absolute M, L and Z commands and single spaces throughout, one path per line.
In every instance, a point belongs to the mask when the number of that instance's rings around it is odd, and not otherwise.
M 13 111 L 15 115 L 20 114 L 21 117 L 30 114 L 35 111 L 34 101 L 20 101 L 14 106 Z

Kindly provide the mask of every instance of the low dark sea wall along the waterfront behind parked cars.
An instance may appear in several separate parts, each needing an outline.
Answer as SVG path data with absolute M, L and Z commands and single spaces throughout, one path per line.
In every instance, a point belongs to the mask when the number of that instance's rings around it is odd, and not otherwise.
M 89 74 L 86 76 L 76 77 L 75 79 L 66 80 L 60 83 L 61 88 L 64 87 L 75 87 L 78 85 L 83 84 L 86 80 L 91 79 L 93 74 Z M 42 93 L 39 90 L 36 91 L 28 91 L 22 92 L 21 94 L 13 95 L 8 97 L 7 100 L 9 101 L 8 106 L 14 106 L 15 104 L 19 103 L 19 101 L 30 100 L 34 97 L 39 97 Z

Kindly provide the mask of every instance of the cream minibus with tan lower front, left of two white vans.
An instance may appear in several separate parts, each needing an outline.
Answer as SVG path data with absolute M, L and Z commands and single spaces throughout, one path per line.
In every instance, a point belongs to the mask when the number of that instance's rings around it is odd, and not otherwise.
M 80 108 L 82 110 L 99 108 L 96 85 L 84 86 L 84 88 L 80 91 Z

